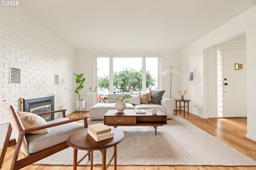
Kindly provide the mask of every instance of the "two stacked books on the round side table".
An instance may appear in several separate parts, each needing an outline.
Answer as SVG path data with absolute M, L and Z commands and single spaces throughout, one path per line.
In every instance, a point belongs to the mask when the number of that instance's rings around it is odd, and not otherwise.
M 103 123 L 89 125 L 88 134 L 97 142 L 114 137 L 114 132 L 111 131 L 111 128 Z

